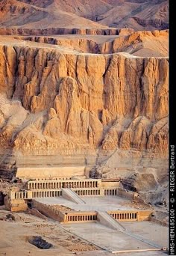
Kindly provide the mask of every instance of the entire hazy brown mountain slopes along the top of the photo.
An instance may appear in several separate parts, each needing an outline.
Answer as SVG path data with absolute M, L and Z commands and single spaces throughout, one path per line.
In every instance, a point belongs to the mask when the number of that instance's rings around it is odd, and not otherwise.
M 168 6 L 167 0 L 3 0 L 0 26 L 166 29 Z

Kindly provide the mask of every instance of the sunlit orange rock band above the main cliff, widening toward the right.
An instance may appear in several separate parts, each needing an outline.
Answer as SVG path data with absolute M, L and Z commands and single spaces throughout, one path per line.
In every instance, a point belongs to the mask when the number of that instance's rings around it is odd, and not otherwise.
M 15 33 L 15 31 L 11 31 Z M 16 33 L 18 33 L 17 31 Z M 34 31 L 31 31 L 31 33 Z M 41 35 L 43 31 L 38 31 L 40 35 L 35 36 L 14 36 L 18 40 L 26 40 L 37 43 L 47 43 L 49 45 L 58 45 L 68 50 L 74 50 L 84 53 L 95 54 L 110 54 L 116 52 L 128 52 L 131 55 L 141 57 L 167 57 L 169 46 L 169 30 L 162 31 L 137 31 L 133 29 L 112 29 L 100 31 L 95 30 L 73 30 L 72 33 L 78 33 L 76 37 L 66 34 L 58 37 L 57 35 L 45 36 Z M 58 33 L 67 31 L 58 31 Z M 91 34 L 91 33 L 92 34 Z M 91 34 L 90 37 L 85 37 L 85 34 Z M 95 34 L 94 34 L 95 33 Z M 1 28 L 0 28 L 1 34 Z M 93 35 L 94 34 L 94 35 Z M 105 36 L 101 36 L 101 34 Z M 114 34 L 114 35 L 113 35 Z M 119 36 L 116 36 L 118 34 Z M 95 36 L 96 35 L 96 36 Z

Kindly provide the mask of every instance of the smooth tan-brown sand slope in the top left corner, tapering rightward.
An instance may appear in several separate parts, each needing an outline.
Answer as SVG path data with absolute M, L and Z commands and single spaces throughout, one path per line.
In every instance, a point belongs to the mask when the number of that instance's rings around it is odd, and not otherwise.
M 1 27 L 51 28 L 51 27 L 100 27 L 84 17 L 60 10 L 59 7 L 48 9 L 9 0 L 0 3 Z M 101 25 L 101 27 L 104 27 Z

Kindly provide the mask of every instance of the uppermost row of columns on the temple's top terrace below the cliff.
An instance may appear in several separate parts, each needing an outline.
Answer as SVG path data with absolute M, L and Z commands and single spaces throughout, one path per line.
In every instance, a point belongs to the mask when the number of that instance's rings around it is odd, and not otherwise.
M 98 181 L 63 181 L 28 183 L 28 189 L 97 188 Z

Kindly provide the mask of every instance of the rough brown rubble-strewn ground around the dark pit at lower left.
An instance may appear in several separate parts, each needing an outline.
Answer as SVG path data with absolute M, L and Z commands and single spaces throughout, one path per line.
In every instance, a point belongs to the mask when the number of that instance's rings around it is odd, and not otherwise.
M 0 219 L 5 219 L 7 210 L 0 210 Z M 0 255 L 72 255 L 74 252 L 101 250 L 100 248 L 82 240 L 63 230 L 59 222 L 51 219 L 43 220 L 25 213 L 13 213 L 16 221 L 0 220 Z M 28 243 L 28 237 L 41 236 L 54 248 L 48 250 L 37 249 Z

